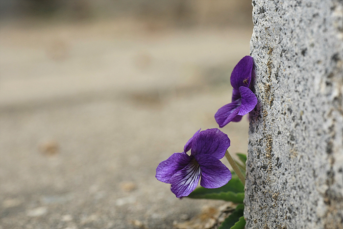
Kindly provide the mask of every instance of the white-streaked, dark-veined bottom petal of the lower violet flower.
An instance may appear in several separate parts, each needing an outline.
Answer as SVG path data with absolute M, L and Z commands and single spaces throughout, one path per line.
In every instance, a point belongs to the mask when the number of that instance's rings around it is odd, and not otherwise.
M 172 176 L 170 182 L 171 190 L 177 198 L 188 196 L 199 182 L 200 166 L 195 160 L 191 161 L 185 168 L 178 171 Z

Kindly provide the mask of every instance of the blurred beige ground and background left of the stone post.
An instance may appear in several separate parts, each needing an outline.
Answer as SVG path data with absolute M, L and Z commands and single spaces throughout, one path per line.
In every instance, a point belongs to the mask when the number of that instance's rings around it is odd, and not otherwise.
M 218 127 L 251 11 L 250 0 L 1 0 L 0 229 L 182 228 L 215 211 L 221 201 L 175 198 L 155 169 Z M 246 153 L 247 117 L 221 130 Z

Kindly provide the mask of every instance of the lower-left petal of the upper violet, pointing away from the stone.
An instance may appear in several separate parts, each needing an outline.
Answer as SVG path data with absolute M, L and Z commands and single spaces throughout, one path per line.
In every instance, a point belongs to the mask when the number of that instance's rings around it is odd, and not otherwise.
M 219 127 L 224 127 L 229 122 L 237 120 L 236 116 L 240 111 L 240 107 L 241 100 L 239 99 L 219 108 L 219 110 L 215 114 L 215 119 Z

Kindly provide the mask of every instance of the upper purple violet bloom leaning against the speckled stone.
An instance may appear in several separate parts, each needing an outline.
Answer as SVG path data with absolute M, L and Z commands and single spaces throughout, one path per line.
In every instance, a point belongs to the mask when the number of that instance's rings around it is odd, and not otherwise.
M 252 111 L 257 99 L 249 89 L 253 59 L 251 56 L 243 57 L 231 73 L 232 102 L 221 107 L 215 114 L 219 127 L 224 127 L 229 122 L 241 121 L 243 115 Z

